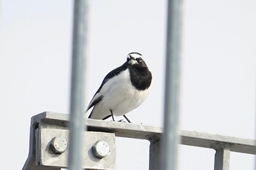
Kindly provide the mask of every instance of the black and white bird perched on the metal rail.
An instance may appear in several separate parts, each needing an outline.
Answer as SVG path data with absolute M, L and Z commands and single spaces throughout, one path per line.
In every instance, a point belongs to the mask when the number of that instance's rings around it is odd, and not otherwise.
M 152 75 L 140 53 L 129 53 L 127 61 L 109 72 L 102 85 L 89 103 L 94 107 L 89 115 L 91 119 L 105 120 L 108 117 L 125 116 L 145 101 L 151 86 Z M 86 112 L 87 112 L 86 111 Z

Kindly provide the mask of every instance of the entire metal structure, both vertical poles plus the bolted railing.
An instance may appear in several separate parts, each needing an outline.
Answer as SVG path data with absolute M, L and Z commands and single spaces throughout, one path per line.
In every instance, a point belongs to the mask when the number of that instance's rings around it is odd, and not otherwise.
M 83 108 L 85 108 L 82 105 L 85 103 L 83 69 L 86 67 L 84 41 L 87 26 L 84 3 L 86 0 L 75 0 L 70 123 L 69 115 L 54 112 L 43 112 L 32 117 L 29 157 L 23 170 L 60 170 L 67 168 L 68 162 L 71 170 L 116 169 L 115 136 L 148 140 L 150 170 L 175 170 L 178 143 L 216 150 L 214 170 L 229 169 L 230 152 L 256 154 L 255 140 L 195 131 L 178 131 L 180 0 L 168 1 L 164 134 L 162 135 L 163 128 L 150 125 L 88 119 L 84 120 L 85 125 L 83 125 L 83 119 L 80 117 L 83 116 Z M 70 136 L 68 125 L 70 125 Z M 82 142 L 85 135 L 85 142 Z M 103 150 L 102 146 L 97 148 L 99 142 L 103 142 Z

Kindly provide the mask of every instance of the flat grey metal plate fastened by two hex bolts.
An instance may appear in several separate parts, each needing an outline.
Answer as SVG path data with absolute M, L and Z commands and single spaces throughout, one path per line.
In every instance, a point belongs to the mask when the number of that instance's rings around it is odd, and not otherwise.
M 58 136 L 66 139 L 68 144 L 68 130 L 50 128 L 41 128 L 39 130 L 37 152 L 39 165 L 67 168 L 69 148 L 61 154 L 56 154 L 50 149 L 50 141 Z M 83 169 L 116 169 L 115 134 L 85 131 L 83 132 L 83 139 Z M 110 154 L 105 158 L 95 157 L 91 150 L 91 147 L 99 140 L 107 142 L 110 147 Z

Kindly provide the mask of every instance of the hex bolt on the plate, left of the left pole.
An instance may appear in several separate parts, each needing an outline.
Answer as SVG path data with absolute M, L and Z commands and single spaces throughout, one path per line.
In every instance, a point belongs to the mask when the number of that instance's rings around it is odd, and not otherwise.
M 57 136 L 50 141 L 50 149 L 56 153 L 61 154 L 67 150 L 67 141 L 64 137 Z

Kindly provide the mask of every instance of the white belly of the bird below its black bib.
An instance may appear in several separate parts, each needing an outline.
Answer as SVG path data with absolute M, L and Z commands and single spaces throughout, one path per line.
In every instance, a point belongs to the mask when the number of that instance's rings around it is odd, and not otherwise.
M 129 71 L 121 72 L 121 76 L 113 77 L 105 83 L 99 95 L 103 98 L 95 105 L 91 114 L 93 119 L 102 119 L 110 115 L 121 116 L 139 107 L 148 96 L 147 90 L 136 90 L 129 80 Z

